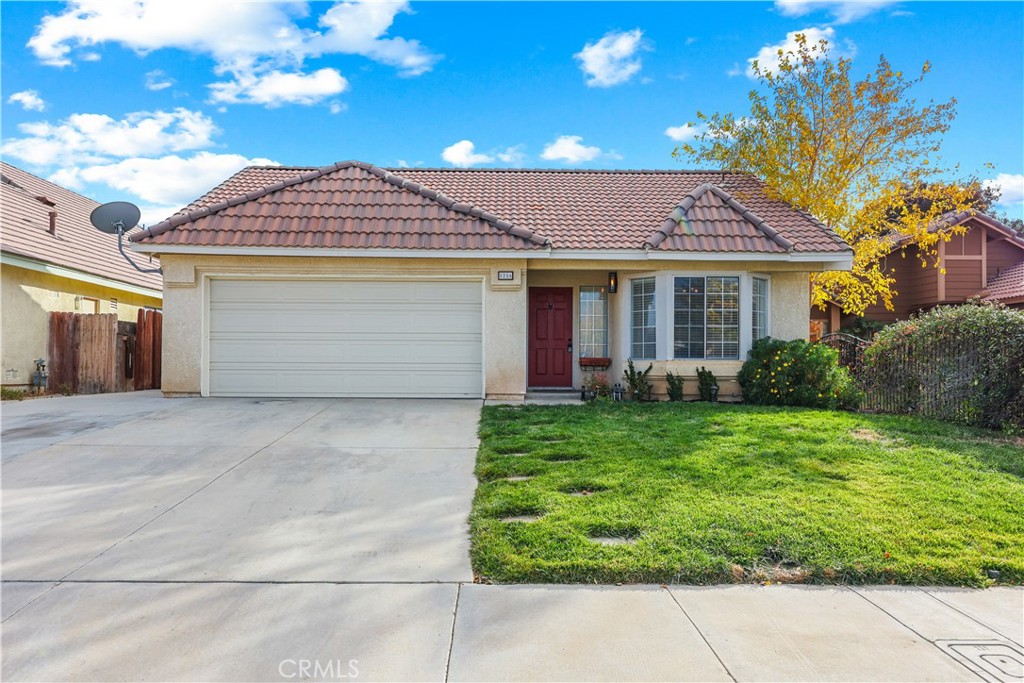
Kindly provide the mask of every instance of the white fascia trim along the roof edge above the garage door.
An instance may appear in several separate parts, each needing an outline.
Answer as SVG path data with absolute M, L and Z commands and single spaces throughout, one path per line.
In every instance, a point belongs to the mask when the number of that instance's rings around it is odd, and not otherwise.
M 459 249 L 331 249 L 324 247 L 191 247 L 188 245 L 131 245 L 142 254 L 197 254 L 210 256 L 319 256 L 324 258 L 548 258 L 550 251 Z

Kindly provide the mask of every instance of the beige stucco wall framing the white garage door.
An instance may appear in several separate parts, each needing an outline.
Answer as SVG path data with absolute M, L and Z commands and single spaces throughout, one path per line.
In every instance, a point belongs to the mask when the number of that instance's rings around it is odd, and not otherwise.
M 161 258 L 164 268 L 164 356 L 167 395 L 204 391 L 206 287 L 221 276 L 479 278 L 483 296 L 484 374 L 487 397 L 522 398 L 525 392 L 525 261 L 522 259 L 395 259 L 180 256 Z M 497 282 L 497 269 L 513 270 L 512 284 Z

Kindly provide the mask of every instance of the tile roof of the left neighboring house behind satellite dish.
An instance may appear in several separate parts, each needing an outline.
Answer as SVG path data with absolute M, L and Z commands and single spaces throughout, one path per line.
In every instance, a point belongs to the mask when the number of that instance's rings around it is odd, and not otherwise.
M 117 236 L 100 232 L 89 222 L 98 202 L 6 162 L 0 167 L 0 250 L 157 293 L 163 289 L 158 273 L 138 272 L 118 253 Z M 56 212 L 56 234 L 49 232 L 51 211 Z

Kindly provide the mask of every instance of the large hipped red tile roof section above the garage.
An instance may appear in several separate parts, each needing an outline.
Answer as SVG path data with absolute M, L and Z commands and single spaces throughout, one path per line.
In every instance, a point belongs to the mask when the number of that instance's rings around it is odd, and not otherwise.
M 273 169 L 256 177 L 283 174 Z M 547 245 L 532 230 L 370 164 L 339 162 L 298 174 L 290 169 L 290 175 L 221 199 L 258 184 L 242 171 L 205 198 L 215 202 L 130 239 L 155 245 L 335 249 L 532 250 Z

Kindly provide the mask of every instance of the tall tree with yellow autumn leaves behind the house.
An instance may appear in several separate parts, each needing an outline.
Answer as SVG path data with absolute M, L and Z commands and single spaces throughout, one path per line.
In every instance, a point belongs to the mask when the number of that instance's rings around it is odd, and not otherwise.
M 913 246 L 923 267 L 939 267 L 939 241 L 967 229 L 937 229 L 939 217 L 978 205 L 977 180 L 942 180 L 949 171 L 936 165 L 956 100 L 919 106 L 909 96 L 928 62 L 908 80 L 883 55 L 854 82 L 851 60 L 834 58 L 826 41 L 796 41 L 795 50 L 779 50 L 777 67 L 753 63 L 763 91 L 751 91 L 748 116 L 698 112 L 690 125 L 702 132 L 673 156 L 753 173 L 853 247 L 852 271 L 812 275 L 813 304 L 834 301 L 853 314 L 878 301 L 891 309 L 895 280 L 885 257 Z

